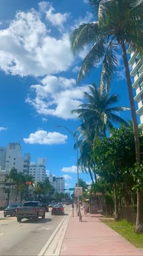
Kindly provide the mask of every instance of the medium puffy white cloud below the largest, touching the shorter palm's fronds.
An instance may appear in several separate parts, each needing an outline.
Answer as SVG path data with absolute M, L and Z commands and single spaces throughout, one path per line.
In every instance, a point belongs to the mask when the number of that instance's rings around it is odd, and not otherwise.
M 45 116 L 56 116 L 63 119 L 75 119 L 71 110 L 78 108 L 84 100 L 84 91 L 89 91 L 87 85 L 75 87 L 75 79 L 46 76 L 41 80 L 42 85 L 32 85 L 31 91 L 36 96 L 28 95 L 25 102 L 32 105 L 36 112 Z

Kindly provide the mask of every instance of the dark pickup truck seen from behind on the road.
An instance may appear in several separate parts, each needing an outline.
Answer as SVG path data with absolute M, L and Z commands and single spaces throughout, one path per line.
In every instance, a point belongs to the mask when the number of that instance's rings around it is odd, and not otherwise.
M 22 219 L 35 219 L 37 221 L 39 217 L 44 219 L 45 208 L 39 201 L 24 202 L 22 207 L 16 208 L 16 217 L 18 222 L 21 222 Z

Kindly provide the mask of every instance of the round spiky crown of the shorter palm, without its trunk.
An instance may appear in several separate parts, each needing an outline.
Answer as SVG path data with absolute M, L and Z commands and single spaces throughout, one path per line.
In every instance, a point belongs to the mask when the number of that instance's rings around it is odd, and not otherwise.
M 121 124 L 127 122 L 116 113 L 123 112 L 130 108 L 127 107 L 113 107 L 113 104 L 118 102 L 118 96 L 112 94 L 108 96 L 109 91 L 98 90 L 95 84 L 90 87 L 90 94 L 84 93 L 87 99 L 86 104 L 79 105 L 78 109 L 72 110 L 71 113 L 78 113 L 78 118 L 83 122 L 78 127 L 77 131 L 81 130 L 82 133 L 88 133 L 88 138 L 94 140 L 95 137 L 106 136 L 106 133 L 111 131 L 113 124 Z M 93 143 L 93 141 L 91 141 Z

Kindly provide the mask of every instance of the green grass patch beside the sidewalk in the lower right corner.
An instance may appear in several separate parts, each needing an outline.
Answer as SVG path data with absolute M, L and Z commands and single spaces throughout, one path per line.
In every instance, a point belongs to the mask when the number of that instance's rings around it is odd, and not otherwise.
M 143 248 L 143 233 L 135 233 L 133 224 L 127 222 L 125 219 L 122 221 L 114 221 L 112 219 L 101 219 L 102 222 L 111 227 L 111 229 L 118 232 L 136 248 Z

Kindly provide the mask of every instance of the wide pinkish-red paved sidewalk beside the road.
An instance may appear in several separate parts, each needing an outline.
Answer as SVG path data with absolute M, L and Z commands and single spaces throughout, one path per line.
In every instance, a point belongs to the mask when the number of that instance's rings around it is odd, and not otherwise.
M 95 217 L 96 216 L 96 217 Z M 61 256 L 143 255 L 121 235 L 100 221 L 98 215 L 70 217 L 61 247 Z

